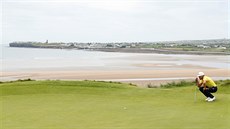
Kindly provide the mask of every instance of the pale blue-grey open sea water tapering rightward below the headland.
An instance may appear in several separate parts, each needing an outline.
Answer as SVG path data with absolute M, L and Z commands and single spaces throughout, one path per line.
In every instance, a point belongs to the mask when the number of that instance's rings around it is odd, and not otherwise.
M 121 53 L 8 46 L 2 46 L 1 50 L 3 71 L 102 67 L 112 63 L 107 58 L 125 56 Z

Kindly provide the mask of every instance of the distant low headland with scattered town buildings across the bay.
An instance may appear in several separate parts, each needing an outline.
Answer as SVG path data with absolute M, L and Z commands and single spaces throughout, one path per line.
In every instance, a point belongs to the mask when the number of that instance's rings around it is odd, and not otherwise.
M 230 55 L 230 39 L 181 40 L 158 42 L 12 42 L 10 47 L 84 49 L 106 52 L 162 53 L 162 54 L 217 54 Z

